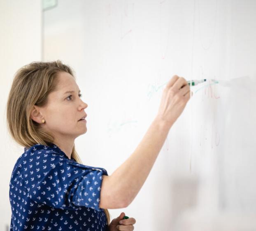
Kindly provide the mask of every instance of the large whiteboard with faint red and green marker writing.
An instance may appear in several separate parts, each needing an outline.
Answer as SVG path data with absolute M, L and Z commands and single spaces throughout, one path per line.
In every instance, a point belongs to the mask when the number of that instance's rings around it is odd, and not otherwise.
M 111 219 L 124 211 L 148 231 L 256 229 L 255 9 L 253 0 L 62 0 L 44 11 L 44 61 L 73 67 L 88 104 L 77 151 L 109 175 L 142 140 L 173 75 L 218 82 L 191 88 L 142 189 Z

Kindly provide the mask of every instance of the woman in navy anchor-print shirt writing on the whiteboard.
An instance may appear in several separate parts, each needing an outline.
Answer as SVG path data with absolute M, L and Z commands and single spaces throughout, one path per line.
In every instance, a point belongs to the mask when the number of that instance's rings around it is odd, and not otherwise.
M 11 230 L 133 230 L 133 217 L 123 219 L 121 213 L 110 222 L 107 208 L 125 208 L 133 201 L 190 88 L 184 78 L 173 76 L 147 134 L 111 176 L 83 165 L 75 150 L 74 140 L 87 131 L 88 105 L 80 97 L 72 69 L 59 60 L 32 62 L 16 72 L 7 125 L 25 148 L 9 184 Z

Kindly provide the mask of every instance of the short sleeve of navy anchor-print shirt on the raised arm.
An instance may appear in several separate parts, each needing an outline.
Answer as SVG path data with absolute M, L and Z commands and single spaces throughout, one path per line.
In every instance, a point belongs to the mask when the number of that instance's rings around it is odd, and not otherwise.
M 35 203 L 61 209 L 86 206 L 102 210 L 100 189 L 102 175 L 108 176 L 105 169 L 79 164 L 54 152 L 35 154 L 31 159 L 29 166 L 33 170 L 25 168 L 23 182 Z

